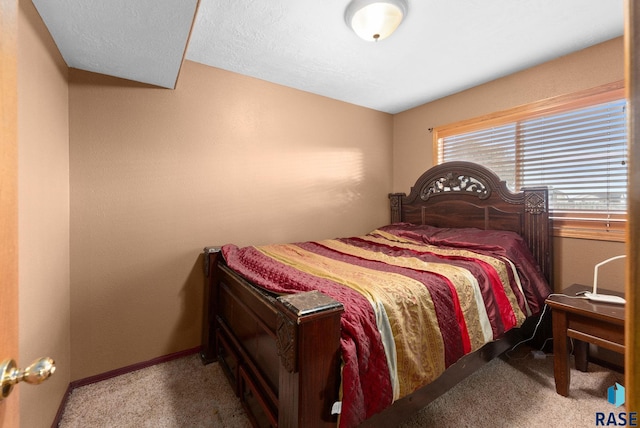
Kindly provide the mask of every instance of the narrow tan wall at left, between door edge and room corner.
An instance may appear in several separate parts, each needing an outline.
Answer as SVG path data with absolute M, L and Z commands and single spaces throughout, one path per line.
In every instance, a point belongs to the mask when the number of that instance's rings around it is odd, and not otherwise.
M 20 356 L 56 373 L 21 385 L 24 427 L 49 427 L 70 380 L 69 104 L 67 67 L 28 0 L 18 22 Z

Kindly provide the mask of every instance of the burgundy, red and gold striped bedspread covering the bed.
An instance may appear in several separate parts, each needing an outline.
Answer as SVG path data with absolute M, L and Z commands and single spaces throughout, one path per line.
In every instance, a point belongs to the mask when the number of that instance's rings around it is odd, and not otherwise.
M 341 427 L 356 426 L 540 312 L 550 287 L 512 232 L 407 223 L 367 235 L 222 248 L 276 293 L 318 290 L 344 305 Z

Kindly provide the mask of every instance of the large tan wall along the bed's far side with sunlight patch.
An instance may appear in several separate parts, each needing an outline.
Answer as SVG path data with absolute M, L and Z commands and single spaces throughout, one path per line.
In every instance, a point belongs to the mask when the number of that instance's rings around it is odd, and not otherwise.
M 392 116 L 186 62 L 70 72 L 72 377 L 200 344 L 207 245 L 388 221 Z

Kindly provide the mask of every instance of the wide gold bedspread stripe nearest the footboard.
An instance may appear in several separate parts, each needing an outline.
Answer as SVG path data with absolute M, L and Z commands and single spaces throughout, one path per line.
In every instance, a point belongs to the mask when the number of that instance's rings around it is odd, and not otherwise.
M 327 245 L 328 242 L 321 244 Z M 413 392 L 445 370 L 444 343 L 435 307 L 428 290 L 419 281 L 334 260 L 295 244 L 266 245 L 258 249 L 295 269 L 359 292 L 371 303 L 376 319 L 388 316 L 392 320 L 393 338 L 387 340 L 395 345 L 397 361 L 395 370 L 390 368 L 396 372 L 399 385 L 399 390 L 394 388 L 394 399 Z M 388 345 L 385 343 L 385 348 Z M 393 378 L 393 373 L 390 374 Z

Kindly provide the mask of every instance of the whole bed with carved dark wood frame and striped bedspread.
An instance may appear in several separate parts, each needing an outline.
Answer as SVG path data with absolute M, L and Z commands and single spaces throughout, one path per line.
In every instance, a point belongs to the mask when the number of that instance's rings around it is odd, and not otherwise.
M 255 426 L 397 425 L 535 323 L 551 292 L 547 196 L 449 162 L 390 194 L 390 223 L 369 234 L 206 247 L 201 358 Z

